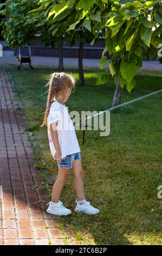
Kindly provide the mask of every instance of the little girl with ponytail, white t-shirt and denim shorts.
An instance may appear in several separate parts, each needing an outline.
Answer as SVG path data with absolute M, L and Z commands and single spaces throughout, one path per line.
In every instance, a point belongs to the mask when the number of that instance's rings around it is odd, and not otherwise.
M 59 200 L 69 169 L 72 168 L 74 189 L 77 196 L 75 212 L 98 214 L 99 210 L 95 209 L 85 199 L 80 147 L 72 119 L 64 105 L 75 87 L 75 79 L 72 75 L 64 72 L 53 73 L 48 85 L 47 107 L 42 126 L 48 126 L 50 151 L 57 161 L 59 172 L 53 186 L 51 202 L 48 203 L 47 212 L 59 216 L 72 214 L 72 211 L 64 207 Z

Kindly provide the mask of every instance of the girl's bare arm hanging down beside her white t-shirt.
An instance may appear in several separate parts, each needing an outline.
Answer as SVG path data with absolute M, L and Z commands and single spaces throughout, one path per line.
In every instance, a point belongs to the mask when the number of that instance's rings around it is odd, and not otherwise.
M 60 143 L 59 143 L 59 138 L 58 138 L 58 133 L 56 130 L 56 126 L 57 126 L 57 121 L 53 124 L 50 125 L 50 132 L 51 132 L 51 138 L 53 140 L 54 143 L 54 147 L 55 147 L 55 155 L 54 155 L 54 159 L 58 162 L 61 162 L 61 149 L 60 149 Z

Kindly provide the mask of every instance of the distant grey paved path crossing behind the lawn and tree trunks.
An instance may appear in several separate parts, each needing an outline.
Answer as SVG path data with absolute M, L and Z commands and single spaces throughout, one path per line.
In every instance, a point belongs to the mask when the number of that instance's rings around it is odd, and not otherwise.
M 4 57 L 0 57 L 0 65 L 4 64 L 16 64 L 18 65 L 18 59 L 16 56 L 7 56 L 7 53 L 4 52 Z M 44 65 L 44 66 L 58 66 L 59 59 L 56 57 L 32 57 L 32 65 Z M 64 66 L 66 68 L 77 68 L 78 60 L 77 58 L 64 58 L 63 59 Z M 84 68 L 98 68 L 99 59 L 83 59 L 83 67 Z M 159 64 L 159 61 L 143 61 L 143 65 L 140 69 L 148 69 L 148 70 L 162 70 L 162 64 Z

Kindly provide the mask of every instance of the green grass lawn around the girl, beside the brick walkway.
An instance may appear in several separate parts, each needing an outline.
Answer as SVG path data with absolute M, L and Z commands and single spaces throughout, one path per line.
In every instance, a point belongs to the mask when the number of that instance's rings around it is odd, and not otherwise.
M 57 163 L 50 155 L 47 127 L 41 128 L 45 107 L 41 87 L 48 81 L 53 68 L 36 67 L 33 71 L 8 65 L 6 70 L 14 90 L 25 109 L 27 131 L 33 131 L 35 154 L 48 169 L 53 181 L 57 177 Z M 69 71 L 69 70 L 68 70 Z M 73 74 L 78 78 L 77 70 Z M 112 105 L 114 83 L 110 78 L 103 86 L 95 86 L 99 70 L 85 70 L 85 87 L 76 87 L 66 105 L 69 111 L 102 111 Z M 162 88 L 160 71 L 139 71 L 137 86 L 126 102 Z M 79 245 L 160 245 L 162 241 L 162 199 L 157 198 L 161 175 L 162 93 L 137 101 L 111 112 L 111 133 L 100 137 L 99 131 L 86 131 L 82 145 L 82 131 L 76 131 L 85 169 L 87 200 L 100 214 L 76 214 L 56 217 L 65 243 Z M 61 194 L 61 201 L 71 210 L 75 208 L 73 173 Z

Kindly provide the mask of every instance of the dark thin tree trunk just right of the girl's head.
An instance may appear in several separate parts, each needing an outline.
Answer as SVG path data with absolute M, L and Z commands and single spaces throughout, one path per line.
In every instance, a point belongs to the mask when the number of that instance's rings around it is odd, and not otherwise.
M 78 69 L 79 69 L 79 86 L 84 86 L 85 84 L 85 78 L 84 78 L 84 73 L 83 73 L 83 45 L 84 41 L 82 41 L 80 37 L 80 42 L 79 42 L 79 54 L 78 54 Z

